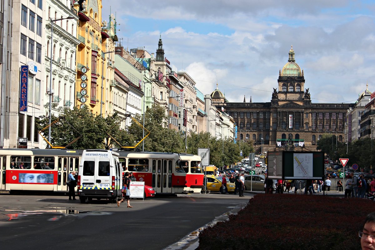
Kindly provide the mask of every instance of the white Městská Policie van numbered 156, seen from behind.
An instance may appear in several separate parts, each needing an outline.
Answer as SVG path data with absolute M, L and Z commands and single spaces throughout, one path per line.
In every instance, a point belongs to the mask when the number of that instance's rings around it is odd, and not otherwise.
M 86 199 L 121 198 L 122 176 L 119 154 L 110 150 L 84 150 L 78 169 L 77 193 L 81 203 Z

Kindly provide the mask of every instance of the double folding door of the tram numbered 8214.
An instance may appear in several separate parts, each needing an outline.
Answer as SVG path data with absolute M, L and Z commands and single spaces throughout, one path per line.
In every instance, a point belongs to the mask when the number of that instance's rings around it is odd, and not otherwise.
M 172 193 L 172 160 L 152 160 L 152 187 L 156 193 Z

